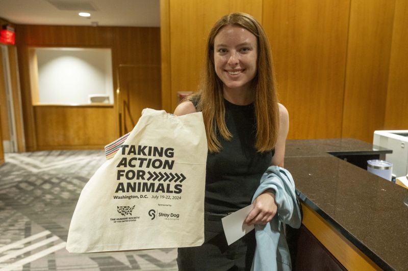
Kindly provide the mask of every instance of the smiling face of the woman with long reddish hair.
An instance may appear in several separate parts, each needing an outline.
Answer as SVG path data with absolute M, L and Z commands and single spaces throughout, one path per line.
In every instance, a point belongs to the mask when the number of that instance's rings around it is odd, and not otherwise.
M 214 39 L 214 66 L 225 91 L 249 91 L 257 74 L 258 41 L 238 25 L 221 28 Z

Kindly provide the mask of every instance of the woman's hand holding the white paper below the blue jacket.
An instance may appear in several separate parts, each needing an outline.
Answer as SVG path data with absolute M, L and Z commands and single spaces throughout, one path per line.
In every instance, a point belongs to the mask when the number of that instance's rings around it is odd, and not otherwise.
M 271 190 L 265 190 L 253 201 L 252 205 L 253 208 L 245 219 L 248 225 L 266 224 L 276 215 L 275 194 Z

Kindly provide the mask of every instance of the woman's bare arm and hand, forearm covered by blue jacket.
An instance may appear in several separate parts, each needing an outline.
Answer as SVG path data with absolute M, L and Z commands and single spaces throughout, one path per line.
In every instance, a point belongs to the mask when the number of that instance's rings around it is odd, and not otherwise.
M 289 131 L 289 113 L 285 106 L 279 105 L 279 134 L 275 145 L 275 154 L 271 165 L 283 167 L 285 158 L 285 142 Z M 253 201 L 253 208 L 245 219 L 245 223 L 266 224 L 276 215 L 277 205 L 275 194 L 271 190 L 264 191 Z

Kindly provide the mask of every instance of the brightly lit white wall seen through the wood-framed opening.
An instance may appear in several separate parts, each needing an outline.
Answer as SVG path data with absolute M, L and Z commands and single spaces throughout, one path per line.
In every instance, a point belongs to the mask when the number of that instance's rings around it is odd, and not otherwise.
M 89 94 L 113 103 L 111 49 L 36 48 L 40 103 L 87 104 Z

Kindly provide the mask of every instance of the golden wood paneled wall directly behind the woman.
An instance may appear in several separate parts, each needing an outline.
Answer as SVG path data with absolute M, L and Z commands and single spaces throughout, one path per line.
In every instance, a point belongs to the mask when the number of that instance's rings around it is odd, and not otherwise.
M 230 12 L 262 22 L 272 46 L 288 138 L 354 137 L 408 129 L 404 0 L 161 0 L 162 99 L 196 91 L 207 35 Z

